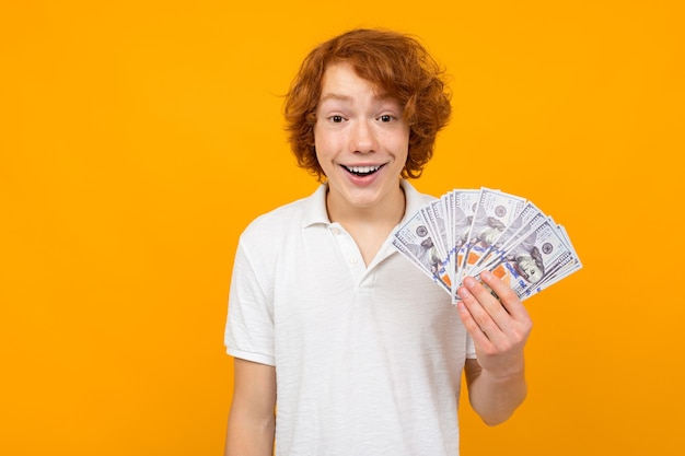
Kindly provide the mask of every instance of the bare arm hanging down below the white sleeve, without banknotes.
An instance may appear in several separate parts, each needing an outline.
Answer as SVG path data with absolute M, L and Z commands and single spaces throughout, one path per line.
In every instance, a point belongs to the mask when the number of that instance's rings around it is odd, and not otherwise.
M 276 369 L 234 359 L 233 402 L 225 456 L 271 456 L 276 428 Z

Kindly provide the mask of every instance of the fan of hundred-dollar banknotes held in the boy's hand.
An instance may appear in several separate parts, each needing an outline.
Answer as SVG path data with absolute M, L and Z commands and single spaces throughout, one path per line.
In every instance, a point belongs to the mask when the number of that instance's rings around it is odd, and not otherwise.
M 422 206 L 395 231 L 393 246 L 452 303 L 462 280 L 484 270 L 524 301 L 582 268 L 564 226 L 525 198 L 485 187 Z

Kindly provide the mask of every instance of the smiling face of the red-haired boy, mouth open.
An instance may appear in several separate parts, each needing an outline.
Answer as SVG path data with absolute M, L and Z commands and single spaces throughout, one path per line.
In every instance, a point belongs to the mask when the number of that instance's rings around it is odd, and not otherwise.
M 404 204 L 399 175 L 407 160 L 409 128 L 402 114 L 396 100 L 358 77 L 349 63 L 326 69 L 314 142 L 328 179 L 329 211 Z

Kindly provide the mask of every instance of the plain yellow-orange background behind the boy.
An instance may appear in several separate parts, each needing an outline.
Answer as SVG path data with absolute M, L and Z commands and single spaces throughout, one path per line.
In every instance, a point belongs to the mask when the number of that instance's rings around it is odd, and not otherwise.
M 236 238 L 315 187 L 280 95 L 353 26 L 452 74 L 417 187 L 527 197 L 584 264 L 527 302 L 514 418 L 464 401 L 464 455 L 682 454 L 680 5 L 1 0 L 0 454 L 221 454 Z

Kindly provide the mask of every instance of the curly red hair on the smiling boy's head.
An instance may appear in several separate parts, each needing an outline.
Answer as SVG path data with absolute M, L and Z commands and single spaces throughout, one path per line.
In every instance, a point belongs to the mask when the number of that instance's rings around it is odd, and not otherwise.
M 414 37 L 383 30 L 353 30 L 312 50 L 285 102 L 286 130 L 298 165 L 320 180 L 324 172 L 314 149 L 314 125 L 326 68 L 345 61 L 360 78 L 396 98 L 409 126 L 409 151 L 402 177 L 419 177 L 433 155 L 438 131 L 450 120 L 451 95 L 444 72 Z

